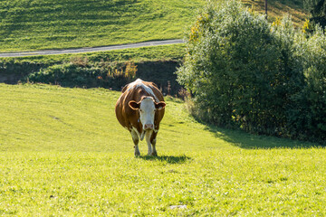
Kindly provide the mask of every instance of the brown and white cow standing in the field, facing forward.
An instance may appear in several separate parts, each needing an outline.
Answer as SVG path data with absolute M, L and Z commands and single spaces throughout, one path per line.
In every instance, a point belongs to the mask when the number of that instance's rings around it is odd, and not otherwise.
M 158 156 L 156 137 L 159 122 L 164 116 L 166 103 L 158 86 L 153 82 L 135 80 L 122 89 L 117 101 L 116 116 L 122 125 L 129 130 L 135 144 L 135 156 L 140 156 L 139 138 L 149 146 L 149 156 Z

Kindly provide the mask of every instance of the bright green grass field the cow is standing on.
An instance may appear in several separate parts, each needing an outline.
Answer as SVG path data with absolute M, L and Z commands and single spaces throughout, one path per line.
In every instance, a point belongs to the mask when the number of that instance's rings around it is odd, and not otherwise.
M 119 95 L 0 84 L 0 215 L 326 214 L 324 148 L 206 127 L 168 99 L 159 156 L 135 158 Z

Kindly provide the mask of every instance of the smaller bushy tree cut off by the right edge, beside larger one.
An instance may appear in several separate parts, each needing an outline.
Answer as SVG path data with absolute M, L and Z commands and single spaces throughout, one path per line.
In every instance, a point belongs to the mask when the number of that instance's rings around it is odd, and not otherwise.
M 289 131 L 294 137 L 326 142 L 326 35 L 316 26 L 314 34 L 299 42 L 297 60 L 302 62 L 305 82 L 292 96 L 288 110 Z

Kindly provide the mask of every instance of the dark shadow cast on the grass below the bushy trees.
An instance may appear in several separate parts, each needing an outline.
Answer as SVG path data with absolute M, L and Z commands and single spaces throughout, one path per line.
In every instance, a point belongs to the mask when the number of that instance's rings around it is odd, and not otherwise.
M 310 148 L 322 147 L 318 143 L 292 140 L 289 138 L 261 136 L 246 133 L 242 130 L 225 129 L 206 126 L 206 130 L 212 132 L 215 137 L 245 149 L 271 149 L 271 148 Z

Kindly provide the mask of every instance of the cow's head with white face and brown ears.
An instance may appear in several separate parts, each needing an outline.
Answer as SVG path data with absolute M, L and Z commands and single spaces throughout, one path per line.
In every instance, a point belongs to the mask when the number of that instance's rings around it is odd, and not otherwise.
M 139 102 L 129 101 L 129 107 L 139 110 L 139 119 L 143 126 L 143 130 L 154 129 L 155 111 L 164 109 L 166 103 L 164 101 L 156 102 L 152 97 L 144 97 Z

